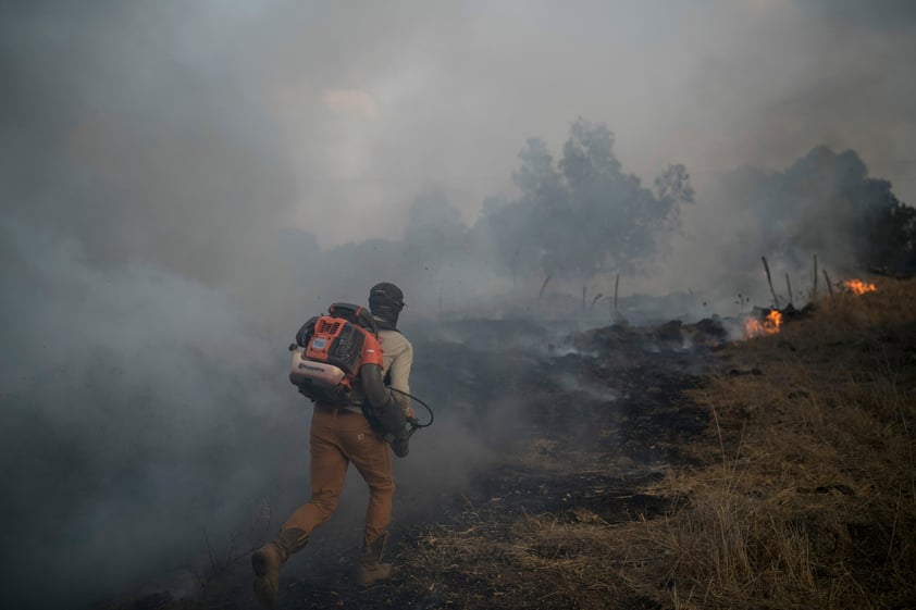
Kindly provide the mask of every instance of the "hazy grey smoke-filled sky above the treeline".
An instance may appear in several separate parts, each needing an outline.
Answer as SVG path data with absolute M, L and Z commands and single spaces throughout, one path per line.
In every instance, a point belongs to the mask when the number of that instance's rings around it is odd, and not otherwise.
M 399 237 L 431 188 L 471 223 L 513 192 L 527 138 L 558 155 L 580 115 L 649 184 L 685 163 L 700 199 L 717 171 L 822 144 L 916 201 L 906 1 L 13 4 L 4 155 L 103 190 L 92 214 L 135 253 L 288 223 L 325 247 Z

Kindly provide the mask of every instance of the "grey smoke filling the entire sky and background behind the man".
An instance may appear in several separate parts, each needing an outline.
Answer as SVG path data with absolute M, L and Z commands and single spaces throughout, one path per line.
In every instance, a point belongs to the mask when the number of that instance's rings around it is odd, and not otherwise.
M 605 324 L 618 273 L 631 320 L 728 313 L 768 300 L 760 256 L 800 287 L 859 264 L 856 206 L 912 184 L 908 4 L 644 4 L 4 3 L 4 607 L 199 569 L 265 502 L 275 527 L 307 496 L 285 346 L 379 281 L 437 410 L 396 466 L 419 514 L 523 416 L 486 349 L 424 358 L 472 343 L 438 322 Z M 570 182 L 578 116 L 612 171 Z M 519 180 L 529 138 L 575 214 L 529 215 L 559 202 Z

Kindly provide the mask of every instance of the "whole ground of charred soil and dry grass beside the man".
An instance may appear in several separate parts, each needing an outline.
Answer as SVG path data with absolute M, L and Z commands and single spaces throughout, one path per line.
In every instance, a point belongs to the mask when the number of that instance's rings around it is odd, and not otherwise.
M 416 393 L 497 458 L 460 493 L 398 491 L 393 581 L 358 588 L 357 549 L 319 540 L 281 607 L 909 607 L 916 287 L 881 290 L 751 341 L 718 320 L 420 333 Z M 117 608 L 255 608 L 238 559 Z

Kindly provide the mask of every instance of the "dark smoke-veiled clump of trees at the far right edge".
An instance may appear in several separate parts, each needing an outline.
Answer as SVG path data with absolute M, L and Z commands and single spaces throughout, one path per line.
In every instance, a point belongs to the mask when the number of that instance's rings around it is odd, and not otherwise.
M 741 307 L 771 303 L 766 258 L 780 303 L 791 296 L 801 307 L 815 281 L 826 289 L 825 271 L 833 282 L 912 273 L 913 216 L 855 151 L 814 147 L 780 171 L 745 166 L 717 176 L 703 201 L 685 210 L 672 256 L 654 271 L 670 289 L 693 290 L 723 313 L 730 299 Z

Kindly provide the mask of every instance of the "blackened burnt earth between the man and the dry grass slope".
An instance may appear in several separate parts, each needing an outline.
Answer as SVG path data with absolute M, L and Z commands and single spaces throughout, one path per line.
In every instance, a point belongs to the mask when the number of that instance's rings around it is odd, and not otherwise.
M 486 523 L 500 535 L 500 524 L 522 514 L 565 519 L 587 509 L 614 523 L 671 510 L 676 500 L 643 489 L 667 466 L 684 463 L 681 446 L 705 428 L 706 411 L 683 390 L 702 383 L 727 334 L 718 320 L 579 333 L 519 320 L 462 320 L 414 329 L 411 339 L 412 391 L 437 411 L 418 438 L 434 443 L 449 422 L 460 422 L 494 459 L 460 491 L 398 490 L 387 552 L 396 565 L 431 528 Z M 426 416 L 422 408 L 418 415 Z M 281 608 L 440 607 L 436 596 L 398 576 L 359 588 L 358 547 L 333 535 L 314 538 L 284 569 Z M 153 593 L 121 608 L 257 608 L 247 559 L 190 598 Z M 441 589 L 482 586 L 454 573 L 443 578 L 450 582 Z

